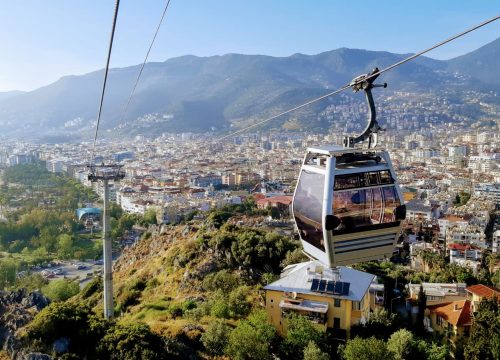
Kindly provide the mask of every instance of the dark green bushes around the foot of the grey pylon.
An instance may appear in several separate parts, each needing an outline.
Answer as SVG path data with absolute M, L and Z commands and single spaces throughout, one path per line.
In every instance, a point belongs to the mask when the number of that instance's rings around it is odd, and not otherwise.
M 55 341 L 67 339 L 66 356 L 79 359 L 179 357 L 175 341 L 153 333 L 147 325 L 106 321 L 86 305 L 74 302 L 52 303 L 43 309 L 27 327 L 26 338 L 30 350 L 46 353 L 52 352 Z

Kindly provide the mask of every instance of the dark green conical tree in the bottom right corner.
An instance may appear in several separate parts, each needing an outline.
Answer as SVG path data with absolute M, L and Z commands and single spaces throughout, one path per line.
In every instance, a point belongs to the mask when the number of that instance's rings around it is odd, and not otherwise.
M 500 306 L 497 298 L 484 298 L 479 303 L 464 355 L 470 360 L 500 359 Z

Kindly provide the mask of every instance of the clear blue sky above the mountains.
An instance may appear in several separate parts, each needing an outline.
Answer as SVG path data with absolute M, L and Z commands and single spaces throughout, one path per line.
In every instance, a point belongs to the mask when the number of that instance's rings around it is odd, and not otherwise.
M 114 3 L 0 0 L 0 91 L 103 68 Z M 121 0 L 111 67 L 142 63 L 165 4 Z M 499 13 L 486 0 L 171 0 L 149 60 L 340 47 L 414 53 Z M 428 56 L 449 59 L 499 37 L 500 20 Z

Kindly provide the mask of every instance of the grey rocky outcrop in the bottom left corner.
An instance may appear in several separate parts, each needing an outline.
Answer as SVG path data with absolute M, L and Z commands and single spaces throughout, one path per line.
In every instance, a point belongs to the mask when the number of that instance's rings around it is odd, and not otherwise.
M 17 332 L 49 304 L 41 292 L 28 293 L 26 289 L 0 292 L 0 346 L 12 359 L 48 360 L 50 356 L 25 353 Z

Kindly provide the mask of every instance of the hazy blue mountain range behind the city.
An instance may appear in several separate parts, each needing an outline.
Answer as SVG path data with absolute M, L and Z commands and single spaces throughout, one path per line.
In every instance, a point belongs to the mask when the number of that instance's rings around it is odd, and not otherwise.
M 114 68 L 109 72 L 101 128 L 127 136 L 241 127 L 408 55 L 341 48 L 317 55 L 187 55 L 151 62 L 126 113 L 140 66 Z M 500 90 L 498 58 L 500 38 L 451 60 L 419 57 L 379 80 L 389 83 L 390 91 L 428 93 L 452 87 L 496 92 Z M 65 76 L 29 92 L 0 93 L 2 133 L 21 138 L 86 136 L 95 124 L 102 78 L 99 70 Z M 319 103 L 300 113 L 304 124 L 326 105 Z

